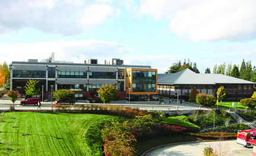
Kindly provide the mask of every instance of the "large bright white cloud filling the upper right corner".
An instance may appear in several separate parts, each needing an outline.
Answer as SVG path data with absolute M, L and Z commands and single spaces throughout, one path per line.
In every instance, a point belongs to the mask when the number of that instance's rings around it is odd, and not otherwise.
M 254 0 L 141 0 L 141 14 L 169 20 L 169 30 L 191 41 L 254 40 Z

